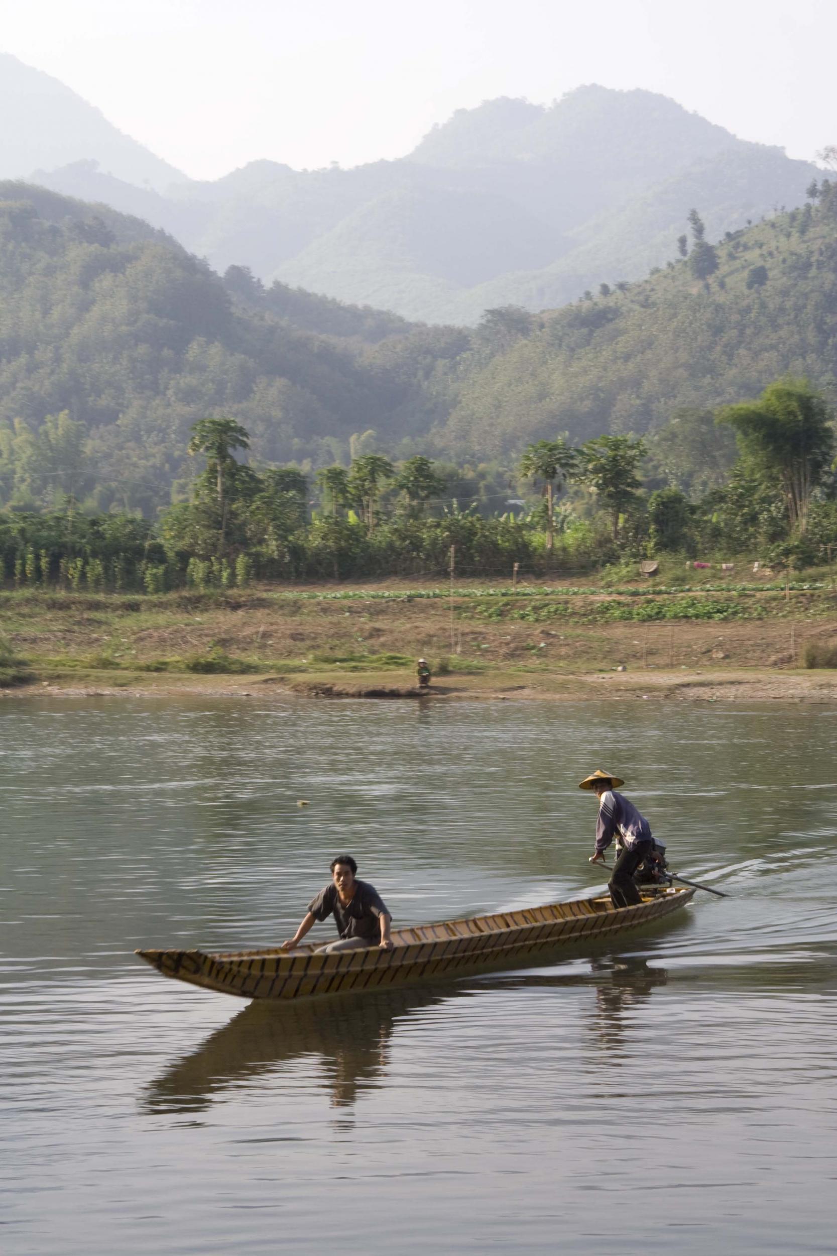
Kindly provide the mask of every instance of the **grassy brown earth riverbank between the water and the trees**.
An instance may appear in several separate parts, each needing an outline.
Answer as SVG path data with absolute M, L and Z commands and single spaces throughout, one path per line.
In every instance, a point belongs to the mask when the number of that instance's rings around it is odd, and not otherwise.
M 0 594 L 1 692 L 827 702 L 828 585 L 338 585 L 159 597 Z M 23 683 L 21 683 L 23 682 Z

